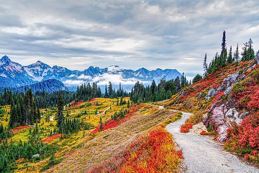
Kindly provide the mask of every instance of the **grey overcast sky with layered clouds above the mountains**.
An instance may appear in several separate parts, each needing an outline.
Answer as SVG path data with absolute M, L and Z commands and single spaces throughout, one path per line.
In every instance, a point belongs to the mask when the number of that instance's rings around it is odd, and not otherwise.
M 2 2 L 1 2 L 2 1 Z M 251 37 L 259 49 L 257 0 L 0 0 L 0 55 L 29 65 L 84 70 L 119 65 L 202 73 L 207 52 Z

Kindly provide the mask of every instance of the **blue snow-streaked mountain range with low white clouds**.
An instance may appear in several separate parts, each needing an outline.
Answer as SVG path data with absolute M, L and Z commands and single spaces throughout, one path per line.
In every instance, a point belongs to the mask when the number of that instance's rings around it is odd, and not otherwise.
M 11 61 L 6 55 L 0 59 L 0 87 L 21 87 L 44 80 L 56 79 L 63 82 L 68 89 L 74 89 L 83 83 L 97 82 L 97 85 L 103 90 L 105 84 L 108 84 L 109 81 L 112 82 L 115 88 L 121 83 L 124 89 L 131 89 L 136 81 L 149 85 L 152 80 L 158 83 L 165 76 L 166 80 L 170 80 L 181 76 L 181 73 L 176 69 L 156 69 L 150 71 L 141 68 L 134 71 L 117 65 L 104 69 L 90 66 L 84 71 L 78 71 L 57 65 L 50 67 L 41 61 L 28 66 L 22 66 L 17 62 Z

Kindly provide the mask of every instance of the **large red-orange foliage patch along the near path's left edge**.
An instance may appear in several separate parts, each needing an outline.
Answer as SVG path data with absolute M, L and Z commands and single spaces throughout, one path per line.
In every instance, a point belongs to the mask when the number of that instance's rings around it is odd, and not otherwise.
M 156 128 L 149 132 L 148 138 L 139 138 L 122 154 L 95 167 L 91 173 L 176 172 L 172 167 L 177 167 L 183 156 L 182 151 L 176 151 L 172 146 L 172 136 L 164 128 Z

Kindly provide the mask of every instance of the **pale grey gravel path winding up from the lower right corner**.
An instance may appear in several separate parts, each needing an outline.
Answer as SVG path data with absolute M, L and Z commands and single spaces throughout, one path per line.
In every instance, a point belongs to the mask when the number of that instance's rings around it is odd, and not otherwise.
M 161 107 L 159 106 L 159 109 L 163 108 Z M 183 164 L 186 165 L 187 173 L 259 172 L 259 169 L 256 167 L 247 165 L 235 155 L 224 151 L 220 144 L 211 140 L 208 136 L 181 133 L 181 124 L 184 124 L 185 120 L 192 115 L 191 113 L 182 113 L 181 120 L 170 123 L 166 126 L 166 130 L 173 135 L 174 141 L 183 152 Z

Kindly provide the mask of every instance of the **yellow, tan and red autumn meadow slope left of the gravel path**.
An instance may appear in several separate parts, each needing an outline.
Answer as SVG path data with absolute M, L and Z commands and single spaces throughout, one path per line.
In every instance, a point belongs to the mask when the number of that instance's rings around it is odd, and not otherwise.
M 150 172 L 159 168 L 177 172 L 183 159 L 181 151 L 174 148 L 172 136 L 164 127 L 181 118 L 181 113 L 147 104 L 131 103 L 127 108 L 127 104 L 116 102 L 117 99 L 95 98 L 67 104 L 64 115 L 70 125 L 69 131 L 66 127 L 62 134 L 56 127 L 57 110 L 41 109 L 40 123 L 8 130 L 13 135 L 0 147 L 11 153 L 16 150 L 17 154 L 11 166 L 0 162 L 1 171 Z M 10 106 L 2 107 L 1 112 L 1 122 L 6 126 Z M 36 134 L 43 143 L 32 140 Z M 165 161 L 168 164 L 164 165 Z

